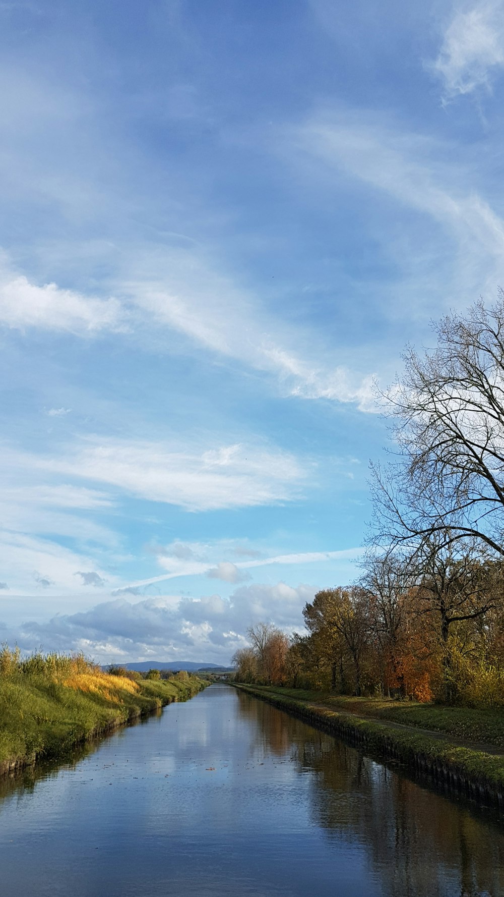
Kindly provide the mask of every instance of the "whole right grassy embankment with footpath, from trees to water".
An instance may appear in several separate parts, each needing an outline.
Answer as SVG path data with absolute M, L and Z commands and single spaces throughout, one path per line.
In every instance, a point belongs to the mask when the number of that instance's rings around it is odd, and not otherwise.
M 369 753 L 403 762 L 457 791 L 504 808 L 501 710 L 348 698 L 265 685 L 239 688 Z

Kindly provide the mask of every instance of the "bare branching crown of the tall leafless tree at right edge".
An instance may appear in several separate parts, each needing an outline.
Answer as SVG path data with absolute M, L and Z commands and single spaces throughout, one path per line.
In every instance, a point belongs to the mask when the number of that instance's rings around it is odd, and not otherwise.
M 435 349 L 404 354 L 382 394 L 398 453 L 372 467 L 375 544 L 439 534 L 504 555 L 504 293 L 434 325 Z

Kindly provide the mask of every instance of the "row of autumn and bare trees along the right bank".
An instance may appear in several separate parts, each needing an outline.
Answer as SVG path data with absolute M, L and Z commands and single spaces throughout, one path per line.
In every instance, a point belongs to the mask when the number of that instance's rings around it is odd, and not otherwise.
M 504 704 L 504 294 L 433 329 L 377 390 L 392 448 L 360 578 L 317 592 L 306 634 L 250 627 L 242 681 Z

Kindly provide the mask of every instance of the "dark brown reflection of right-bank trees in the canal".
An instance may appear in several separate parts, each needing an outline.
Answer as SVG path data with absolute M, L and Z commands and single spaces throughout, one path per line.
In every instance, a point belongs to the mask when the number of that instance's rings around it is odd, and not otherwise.
M 368 851 L 384 897 L 501 897 L 504 832 L 343 742 L 239 693 L 255 747 L 311 774 L 314 821 Z M 337 879 L 337 870 L 335 870 Z

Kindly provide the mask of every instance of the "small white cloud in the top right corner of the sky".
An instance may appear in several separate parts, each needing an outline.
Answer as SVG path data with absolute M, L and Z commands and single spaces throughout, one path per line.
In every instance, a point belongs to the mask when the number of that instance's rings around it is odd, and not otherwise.
M 483 0 L 457 4 L 443 36 L 439 56 L 430 66 L 444 83 L 445 98 L 490 90 L 504 66 L 504 3 Z

